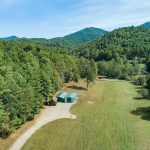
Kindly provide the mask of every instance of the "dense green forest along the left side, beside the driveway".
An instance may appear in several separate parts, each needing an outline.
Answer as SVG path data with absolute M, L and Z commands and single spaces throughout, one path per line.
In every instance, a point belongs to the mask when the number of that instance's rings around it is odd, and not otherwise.
M 0 135 L 32 119 L 63 83 L 86 78 L 94 67 L 61 50 L 0 40 Z

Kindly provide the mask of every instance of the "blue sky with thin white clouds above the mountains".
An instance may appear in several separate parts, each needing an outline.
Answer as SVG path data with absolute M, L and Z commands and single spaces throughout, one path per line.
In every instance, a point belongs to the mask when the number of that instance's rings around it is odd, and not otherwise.
M 0 37 L 63 37 L 150 21 L 149 0 L 0 0 Z

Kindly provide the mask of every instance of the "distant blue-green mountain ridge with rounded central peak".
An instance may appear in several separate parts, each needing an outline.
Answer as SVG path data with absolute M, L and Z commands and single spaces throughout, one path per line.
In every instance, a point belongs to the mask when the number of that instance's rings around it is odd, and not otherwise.
M 98 28 L 85 28 L 81 31 L 75 32 L 73 34 L 52 38 L 52 39 L 42 39 L 42 38 L 20 38 L 17 39 L 19 42 L 24 43 L 34 43 L 34 44 L 42 44 L 47 47 L 51 47 L 52 45 L 55 47 L 61 47 L 64 49 L 71 50 L 73 47 L 78 47 L 84 43 L 93 41 L 100 36 L 106 34 L 107 31 L 98 29 Z

